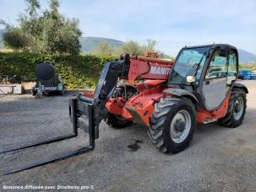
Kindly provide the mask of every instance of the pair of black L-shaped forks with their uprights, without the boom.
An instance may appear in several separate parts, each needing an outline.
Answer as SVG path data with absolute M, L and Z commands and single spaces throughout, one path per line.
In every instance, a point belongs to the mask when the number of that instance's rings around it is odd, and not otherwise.
M 94 106 L 92 104 L 88 104 L 88 111 L 82 111 L 82 112 L 88 114 L 88 118 L 89 118 L 89 130 L 88 130 L 89 146 L 88 147 L 81 147 L 81 148 L 73 150 L 73 151 L 63 152 L 61 154 L 58 154 L 55 157 L 46 158 L 46 159 L 43 159 L 43 160 L 38 161 L 38 162 L 28 163 L 25 166 L 22 166 L 22 167 L 19 167 L 19 168 L 9 168 L 9 169 L 3 170 L 3 174 L 8 175 L 8 174 L 17 173 L 17 172 L 20 172 L 20 171 L 25 171 L 25 170 L 30 169 L 30 168 L 36 168 L 36 167 L 39 167 L 41 165 L 54 163 L 54 162 L 66 159 L 68 157 L 74 157 L 74 156 L 83 154 L 85 152 L 93 151 L 95 149 Z M 46 144 L 53 143 L 53 142 L 63 141 L 63 140 L 67 140 L 67 139 L 74 138 L 74 137 L 78 136 L 78 128 L 79 128 L 78 113 L 79 113 L 78 99 L 76 99 L 76 98 L 70 99 L 69 100 L 69 117 L 71 118 L 71 120 L 73 122 L 73 134 L 72 135 L 58 136 L 58 137 L 56 137 L 54 139 L 51 139 L 51 140 L 37 142 L 37 143 L 31 144 L 31 145 L 25 146 L 25 147 L 17 147 L 17 148 L 6 150 L 6 151 L 0 152 L 0 153 L 14 152 L 14 151 L 17 151 L 17 150 L 20 150 L 20 149 L 25 149 L 25 148 L 30 148 L 30 147 L 38 147 L 38 146 L 46 145 Z

